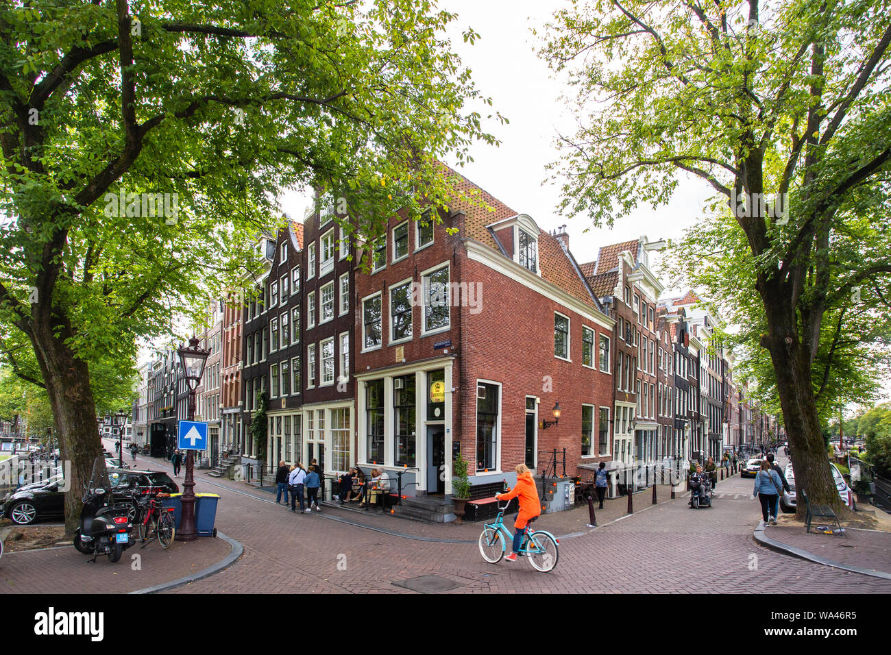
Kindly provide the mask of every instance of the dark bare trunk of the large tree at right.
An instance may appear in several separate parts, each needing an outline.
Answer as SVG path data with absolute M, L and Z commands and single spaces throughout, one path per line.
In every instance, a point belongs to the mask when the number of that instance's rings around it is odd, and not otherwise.
M 805 518 L 806 504 L 800 494 L 802 489 L 807 492 L 811 503 L 831 505 L 836 512 L 844 512 L 844 505 L 832 478 L 813 397 L 810 356 L 804 352 L 805 348 L 798 340 L 794 319 L 781 316 L 779 320 L 770 321 L 778 313 L 771 312 L 767 307 L 767 299 L 764 300 L 771 334 L 763 340 L 763 345 L 770 351 L 776 372 L 777 391 L 789 436 L 789 452 L 794 458 L 795 486 L 798 492 L 797 518 Z M 782 299 L 777 304 L 788 306 L 788 301 Z M 791 342 L 788 343 L 787 340 Z

